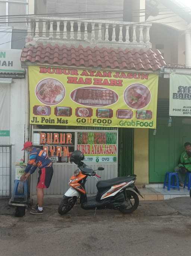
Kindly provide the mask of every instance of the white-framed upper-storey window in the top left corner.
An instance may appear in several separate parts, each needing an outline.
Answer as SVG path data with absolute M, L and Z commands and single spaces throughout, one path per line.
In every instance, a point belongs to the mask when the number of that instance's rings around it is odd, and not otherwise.
M 26 19 L 19 17 L 11 17 L 9 15 L 24 15 L 28 14 L 28 0 L 0 0 L 0 26 L 10 27 L 26 27 Z

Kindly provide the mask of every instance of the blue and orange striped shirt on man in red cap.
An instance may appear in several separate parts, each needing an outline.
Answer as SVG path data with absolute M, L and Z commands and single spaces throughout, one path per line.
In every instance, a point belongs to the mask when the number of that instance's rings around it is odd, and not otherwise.
M 32 148 L 32 152 L 30 153 L 29 160 L 27 166 L 25 168 L 25 172 L 29 172 L 32 174 L 37 167 L 39 169 L 51 167 L 53 163 L 48 158 L 48 155 L 45 151 L 40 148 Z

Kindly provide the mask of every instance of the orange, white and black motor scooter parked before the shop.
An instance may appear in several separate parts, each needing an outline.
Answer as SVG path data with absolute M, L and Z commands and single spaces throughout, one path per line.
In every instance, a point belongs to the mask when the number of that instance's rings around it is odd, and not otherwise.
M 98 171 L 103 171 L 103 167 L 98 167 Z M 95 171 L 85 165 L 84 162 L 78 164 L 78 169 L 70 178 L 70 188 L 66 191 L 60 202 L 58 213 L 64 215 L 68 213 L 76 204 L 80 196 L 81 208 L 84 210 L 94 209 L 115 209 L 122 213 L 132 213 L 139 205 L 138 195 L 141 193 L 135 186 L 136 175 L 126 177 L 117 177 L 110 180 L 98 181 L 96 177 L 101 178 Z M 85 183 L 87 177 L 95 177 L 97 195 L 87 197 Z M 138 195 L 137 195 L 138 194 Z M 141 196 L 143 197 L 143 196 Z

